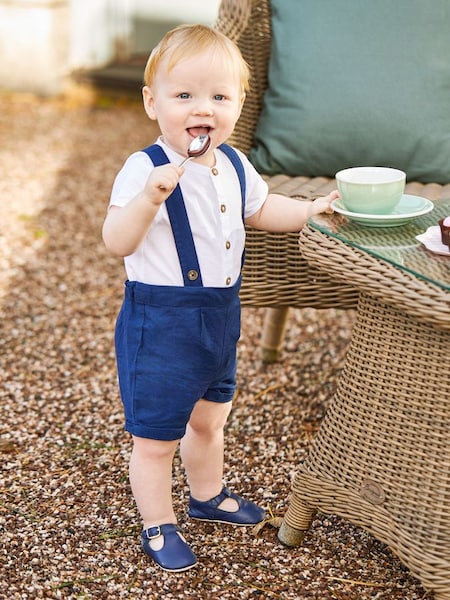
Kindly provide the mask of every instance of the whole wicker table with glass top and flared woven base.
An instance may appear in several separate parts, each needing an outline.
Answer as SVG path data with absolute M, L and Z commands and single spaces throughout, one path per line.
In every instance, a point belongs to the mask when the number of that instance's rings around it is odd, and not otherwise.
M 303 256 L 359 291 L 335 397 L 296 474 L 279 539 L 314 513 L 385 542 L 435 598 L 450 599 L 450 257 L 416 239 L 450 201 L 400 227 L 311 220 Z

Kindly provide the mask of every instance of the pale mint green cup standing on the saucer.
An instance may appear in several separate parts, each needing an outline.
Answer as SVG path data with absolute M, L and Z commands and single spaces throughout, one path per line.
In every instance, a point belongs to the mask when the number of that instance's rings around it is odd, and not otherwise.
M 336 173 L 344 207 L 354 213 L 389 215 L 405 191 L 406 173 L 390 167 L 351 167 Z

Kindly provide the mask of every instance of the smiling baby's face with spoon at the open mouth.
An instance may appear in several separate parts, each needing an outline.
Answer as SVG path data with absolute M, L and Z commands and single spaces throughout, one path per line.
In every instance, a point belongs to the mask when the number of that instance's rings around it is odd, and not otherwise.
M 212 165 L 212 150 L 232 133 L 243 100 L 239 74 L 224 57 L 207 53 L 186 58 L 170 71 L 164 59 L 152 85 L 144 88 L 147 114 L 157 119 L 173 150 L 186 156 L 194 137 L 210 136 L 210 150 L 197 159 L 207 165 Z

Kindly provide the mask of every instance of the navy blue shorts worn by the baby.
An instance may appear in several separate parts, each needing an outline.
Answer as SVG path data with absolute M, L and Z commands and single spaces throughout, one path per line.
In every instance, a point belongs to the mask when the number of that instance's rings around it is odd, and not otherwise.
M 126 282 L 115 344 L 128 432 L 181 439 L 200 398 L 232 400 L 239 287 L 240 281 L 231 288 Z

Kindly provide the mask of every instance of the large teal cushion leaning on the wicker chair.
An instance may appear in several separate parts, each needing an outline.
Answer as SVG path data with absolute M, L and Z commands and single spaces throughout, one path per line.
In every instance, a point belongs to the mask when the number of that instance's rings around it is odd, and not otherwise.
M 390 166 L 450 182 L 450 0 L 271 0 L 250 159 L 267 174 Z

